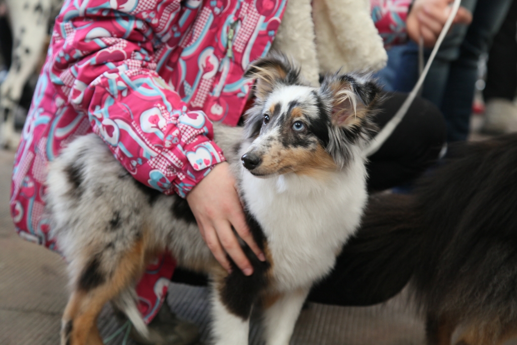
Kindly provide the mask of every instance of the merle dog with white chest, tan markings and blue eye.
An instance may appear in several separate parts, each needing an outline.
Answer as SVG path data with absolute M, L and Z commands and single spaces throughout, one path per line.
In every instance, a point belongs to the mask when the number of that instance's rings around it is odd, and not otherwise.
M 367 202 L 364 166 L 377 86 L 334 75 L 311 87 L 285 57 L 254 63 L 254 107 L 241 128 L 215 126 L 233 164 L 247 222 L 266 262 L 242 242 L 253 267 L 228 274 L 205 245 L 187 202 L 136 182 L 95 134 L 50 164 L 48 209 L 69 262 L 71 296 L 62 345 L 102 344 L 96 327 L 114 300 L 143 334 L 134 282 L 149 257 L 169 250 L 180 267 L 212 280 L 216 344 L 248 343 L 252 307 L 264 307 L 268 345 L 287 345 L 312 284 L 332 269 Z

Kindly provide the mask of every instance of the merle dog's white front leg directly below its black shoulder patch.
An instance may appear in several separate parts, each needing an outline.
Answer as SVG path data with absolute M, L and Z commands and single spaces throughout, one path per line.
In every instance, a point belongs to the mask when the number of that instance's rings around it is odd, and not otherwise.
M 212 291 L 212 337 L 215 345 L 247 345 L 249 316 L 232 313 L 223 303 L 218 289 Z

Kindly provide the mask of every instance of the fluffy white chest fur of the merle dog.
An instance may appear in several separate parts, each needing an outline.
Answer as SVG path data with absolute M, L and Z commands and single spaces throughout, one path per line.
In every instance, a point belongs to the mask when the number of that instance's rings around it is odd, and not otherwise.
M 243 171 L 244 199 L 267 238 L 276 289 L 309 287 L 330 271 L 359 226 L 366 176 L 361 158 L 325 179 L 293 173 L 258 178 Z

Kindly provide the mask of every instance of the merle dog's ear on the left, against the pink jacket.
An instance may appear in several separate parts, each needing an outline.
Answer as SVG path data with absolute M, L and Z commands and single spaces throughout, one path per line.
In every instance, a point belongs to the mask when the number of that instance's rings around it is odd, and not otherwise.
M 258 59 L 244 73 L 245 78 L 256 79 L 255 95 L 260 100 L 265 100 L 279 84 L 298 84 L 299 75 L 300 70 L 285 55 L 279 53 Z

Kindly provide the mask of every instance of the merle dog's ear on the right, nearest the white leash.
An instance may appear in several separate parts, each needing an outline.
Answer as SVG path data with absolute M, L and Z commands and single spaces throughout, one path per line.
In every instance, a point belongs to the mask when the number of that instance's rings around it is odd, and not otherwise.
M 372 80 L 350 74 L 326 77 L 321 89 L 331 99 L 331 121 L 337 127 L 360 126 L 367 121 L 381 91 Z

